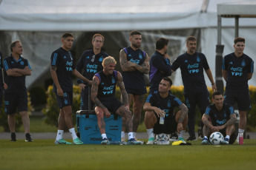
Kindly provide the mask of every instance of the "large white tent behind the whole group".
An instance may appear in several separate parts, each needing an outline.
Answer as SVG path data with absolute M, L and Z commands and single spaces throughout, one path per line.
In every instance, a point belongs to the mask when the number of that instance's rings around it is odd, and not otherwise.
M 186 52 L 186 36 L 196 33 L 200 41 L 199 50 L 206 55 L 214 75 L 217 4 L 232 2 L 237 5 L 236 9 L 242 8 L 243 4 L 256 4 L 256 1 L 239 0 L 0 1 L 0 32 L 7 33 L 10 41 L 19 38 L 22 39 L 23 44 L 26 43 L 24 57 L 29 59 L 31 67 L 34 68 L 33 75 L 27 78 L 28 86 L 33 84 L 42 73 L 49 70 L 50 54 L 61 45 L 60 35 L 66 31 L 75 32 L 76 38 L 85 32 L 116 31 L 111 35 L 111 39 L 114 41 L 124 39 L 125 46 L 128 46 L 128 32 L 141 30 L 142 49 L 146 50 L 149 56 L 154 52 L 154 43 L 157 38 L 170 38 L 170 48 L 176 41 L 180 47 L 177 53 L 172 54 L 172 61 L 177 58 L 177 55 Z M 240 36 L 246 38 L 245 53 L 254 61 L 255 28 L 255 18 L 240 20 Z M 116 37 L 117 32 L 122 36 Z M 91 37 L 86 38 L 91 41 Z M 109 39 L 106 39 L 105 44 L 108 44 Z M 222 41 L 225 49 L 223 55 L 233 52 L 233 39 L 234 20 L 224 18 Z M 122 47 L 116 48 L 117 53 L 120 48 Z M 0 50 L 3 50 L 3 47 L 0 46 Z M 179 76 L 180 72 L 177 72 L 174 85 L 182 84 Z M 208 78 L 206 78 L 206 84 L 210 86 Z M 255 75 L 249 84 L 256 86 Z

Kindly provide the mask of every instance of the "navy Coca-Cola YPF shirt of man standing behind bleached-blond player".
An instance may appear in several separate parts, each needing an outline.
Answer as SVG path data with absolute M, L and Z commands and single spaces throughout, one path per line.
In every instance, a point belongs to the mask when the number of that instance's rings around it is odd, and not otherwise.
M 78 63 L 76 64 L 76 70 L 82 73 L 82 69 L 84 70 L 83 76 L 88 78 L 89 81 L 93 80 L 93 76 L 103 70 L 102 61 L 104 58 L 108 57 L 106 52 L 99 52 L 99 54 L 94 55 L 93 50 L 86 50 L 82 53 L 81 58 L 79 58 Z M 78 84 L 88 84 L 87 82 L 83 82 L 81 79 L 78 79 Z

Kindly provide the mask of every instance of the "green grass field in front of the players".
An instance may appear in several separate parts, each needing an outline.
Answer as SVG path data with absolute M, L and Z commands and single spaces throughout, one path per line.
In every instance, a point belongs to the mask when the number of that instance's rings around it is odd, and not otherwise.
M 0 140 L 0 169 L 256 169 L 256 140 L 243 146 L 54 145 Z

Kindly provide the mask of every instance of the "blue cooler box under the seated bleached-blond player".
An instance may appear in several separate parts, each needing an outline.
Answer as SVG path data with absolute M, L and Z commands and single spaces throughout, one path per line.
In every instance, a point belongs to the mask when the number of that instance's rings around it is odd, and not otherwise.
M 90 112 L 90 111 L 89 111 Z M 102 135 L 99 132 L 97 117 L 95 113 L 88 113 L 84 110 L 77 111 L 76 127 L 80 133 L 80 139 L 84 144 L 100 144 Z M 111 115 L 104 118 L 105 131 L 109 141 L 121 141 L 122 117 Z

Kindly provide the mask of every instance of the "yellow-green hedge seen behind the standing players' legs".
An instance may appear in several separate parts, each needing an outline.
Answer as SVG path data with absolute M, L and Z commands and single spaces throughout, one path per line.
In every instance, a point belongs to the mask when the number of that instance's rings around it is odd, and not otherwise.
M 212 97 L 212 89 L 208 87 L 210 98 Z M 147 89 L 149 92 L 149 89 Z M 247 128 L 248 130 L 255 129 L 256 126 L 256 86 L 249 86 L 249 91 L 252 101 L 252 109 L 248 112 Z M 171 86 L 171 92 L 177 98 L 180 98 L 181 101 L 185 101 L 183 95 L 183 86 Z M 116 98 L 120 98 L 121 92 L 118 87 L 116 87 Z M 148 94 L 145 95 L 145 99 L 148 97 Z M 79 86 L 73 86 L 73 123 L 76 123 L 76 111 L 79 110 L 80 106 L 80 88 Z M 132 111 L 132 106 L 131 106 Z M 200 122 L 200 112 L 199 109 L 196 109 L 196 123 Z M 45 123 L 58 126 L 58 116 L 59 116 L 59 106 L 56 101 L 56 95 L 53 93 L 53 86 L 49 86 L 47 89 L 47 106 L 43 109 L 45 114 Z M 144 120 L 145 112 L 142 111 L 141 122 Z

